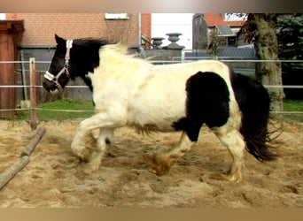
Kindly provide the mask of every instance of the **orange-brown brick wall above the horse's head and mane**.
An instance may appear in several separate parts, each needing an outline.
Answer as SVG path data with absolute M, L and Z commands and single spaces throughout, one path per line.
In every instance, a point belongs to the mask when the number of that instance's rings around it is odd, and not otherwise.
M 103 37 L 114 42 L 138 43 L 138 14 L 108 20 L 104 13 L 18 13 L 6 19 L 24 19 L 21 45 L 54 45 L 54 34 L 66 39 Z

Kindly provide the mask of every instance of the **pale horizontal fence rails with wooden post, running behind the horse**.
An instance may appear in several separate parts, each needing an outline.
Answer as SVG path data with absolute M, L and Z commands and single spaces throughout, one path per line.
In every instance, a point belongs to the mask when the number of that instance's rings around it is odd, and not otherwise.
M 181 58 L 181 57 L 180 57 Z M 195 57 L 197 58 L 197 57 Z M 187 63 L 192 60 L 175 60 L 172 61 L 150 61 L 151 64 L 175 64 L 175 63 Z M 292 62 L 292 63 L 303 63 L 303 60 L 230 60 L 230 59 L 221 59 L 221 62 Z M 0 64 L 29 64 L 30 68 L 27 72 L 30 73 L 30 85 L 0 85 L 0 88 L 30 88 L 30 103 L 31 106 L 28 108 L 15 108 L 15 109 L 1 109 L 0 111 L 22 111 L 30 110 L 31 111 L 31 126 L 35 128 L 35 111 L 36 110 L 47 110 L 47 111 L 62 111 L 62 112 L 94 112 L 94 110 L 60 110 L 60 109 L 46 109 L 46 108 L 37 108 L 35 105 L 35 88 L 43 88 L 42 85 L 35 85 L 35 75 L 43 74 L 44 71 L 36 71 L 35 64 L 50 64 L 49 61 L 35 61 L 35 59 L 30 58 L 29 61 L 0 61 Z M 303 88 L 303 85 L 264 85 L 265 88 Z M 88 86 L 75 85 L 75 86 L 66 86 L 66 88 L 89 88 Z M 274 114 L 303 114 L 303 111 L 271 111 Z

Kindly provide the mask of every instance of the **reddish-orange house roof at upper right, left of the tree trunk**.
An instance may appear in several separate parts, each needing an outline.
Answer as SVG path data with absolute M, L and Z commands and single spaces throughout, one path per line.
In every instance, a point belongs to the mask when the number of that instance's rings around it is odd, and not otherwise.
M 214 26 L 229 26 L 229 27 L 242 27 L 245 20 L 224 20 L 221 13 L 203 13 L 206 19 L 207 27 Z

